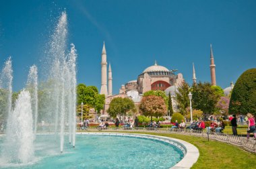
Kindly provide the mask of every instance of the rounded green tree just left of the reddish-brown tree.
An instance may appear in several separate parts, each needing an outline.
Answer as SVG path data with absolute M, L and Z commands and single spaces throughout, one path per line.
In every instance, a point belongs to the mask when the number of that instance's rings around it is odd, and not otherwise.
M 110 102 L 107 112 L 111 117 L 119 116 L 120 119 L 121 116 L 126 116 L 127 112 L 134 109 L 134 107 L 135 105 L 131 99 L 116 97 Z

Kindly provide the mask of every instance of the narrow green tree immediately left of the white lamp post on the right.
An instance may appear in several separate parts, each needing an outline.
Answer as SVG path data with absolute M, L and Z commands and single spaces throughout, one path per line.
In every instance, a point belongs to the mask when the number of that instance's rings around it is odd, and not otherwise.
M 186 115 L 187 107 L 189 107 L 189 84 L 187 82 L 182 82 L 178 87 L 178 92 L 176 93 L 177 103 L 179 104 L 179 110 L 182 115 Z

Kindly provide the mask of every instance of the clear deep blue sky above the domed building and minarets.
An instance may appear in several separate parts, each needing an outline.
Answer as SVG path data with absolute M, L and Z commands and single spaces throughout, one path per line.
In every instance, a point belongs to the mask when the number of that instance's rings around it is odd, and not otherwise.
M 32 64 L 43 69 L 46 44 L 64 10 L 67 44 L 75 44 L 78 53 L 77 82 L 98 89 L 103 41 L 113 70 L 113 93 L 154 60 L 179 69 L 189 84 L 194 62 L 197 80 L 210 82 L 210 44 L 220 87 L 256 67 L 256 1 L 3 0 L 0 67 L 12 57 L 15 91 L 24 87 Z

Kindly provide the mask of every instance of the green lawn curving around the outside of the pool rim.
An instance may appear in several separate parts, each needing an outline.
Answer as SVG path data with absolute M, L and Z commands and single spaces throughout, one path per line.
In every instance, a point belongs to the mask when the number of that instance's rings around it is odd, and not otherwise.
M 196 146 L 200 156 L 192 168 L 255 168 L 256 154 L 247 152 L 242 148 L 218 142 L 215 140 L 207 141 L 203 137 L 195 137 L 191 135 L 179 135 L 173 133 L 148 133 L 148 132 L 132 132 L 146 133 L 152 135 L 162 135 L 183 139 Z

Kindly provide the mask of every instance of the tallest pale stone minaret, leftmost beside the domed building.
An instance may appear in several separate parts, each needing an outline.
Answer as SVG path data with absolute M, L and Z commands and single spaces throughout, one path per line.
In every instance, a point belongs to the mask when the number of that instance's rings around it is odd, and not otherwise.
M 104 94 L 105 97 L 108 96 L 108 89 L 106 87 L 106 48 L 105 42 L 103 42 L 102 54 L 101 54 L 101 88 L 100 94 Z

